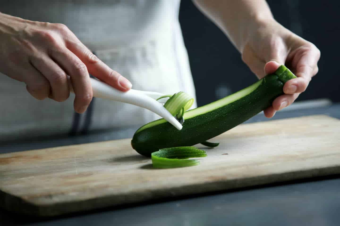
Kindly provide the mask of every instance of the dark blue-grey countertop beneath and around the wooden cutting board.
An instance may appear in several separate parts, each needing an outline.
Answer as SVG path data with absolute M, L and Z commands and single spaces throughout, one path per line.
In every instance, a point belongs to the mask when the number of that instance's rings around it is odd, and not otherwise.
M 324 114 L 340 119 L 340 103 L 259 114 L 245 123 Z M 0 153 L 130 138 L 136 128 L 0 144 Z M 340 148 L 340 147 L 339 147 Z M 339 225 L 340 175 L 205 196 L 105 208 L 53 219 L 30 219 L 0 210 L 0 225 Z

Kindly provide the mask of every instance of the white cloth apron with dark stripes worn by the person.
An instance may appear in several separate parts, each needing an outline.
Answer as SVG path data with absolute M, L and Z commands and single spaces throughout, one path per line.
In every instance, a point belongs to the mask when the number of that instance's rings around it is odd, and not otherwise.
M 179 5 L 180 0 L 12 0 L 0 8 L 24 19 L 66 24 L 134 89 L 185 91 L 195 98 Z M 74 129 L 73 100 L 73 94 L 61 103 L 36 100 L 24 83 L 0 74 L 0 141 L 67 134 Z M 159 118 L 147 109 L 98 98 L 91 115 L 86 121 L 82 114 L 75 129 L 131 127 Z

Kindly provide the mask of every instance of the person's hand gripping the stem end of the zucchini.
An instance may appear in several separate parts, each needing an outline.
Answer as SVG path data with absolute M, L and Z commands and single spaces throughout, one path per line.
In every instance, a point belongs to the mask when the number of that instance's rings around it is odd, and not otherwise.
M 320 50 L 274 20 L 261 24 L 249 37 L 242 50 L 242 60 L 259 79 L 274 73 L 281 64 L 297 76 L 286 82 L 284 95 L 264 110 L 265 116 L 271 118 L 306 90 L 311 78 L 318 73 Z

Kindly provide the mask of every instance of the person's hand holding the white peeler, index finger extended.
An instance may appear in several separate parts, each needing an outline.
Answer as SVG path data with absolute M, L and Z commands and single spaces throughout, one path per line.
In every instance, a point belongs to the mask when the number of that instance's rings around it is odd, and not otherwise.
M 131 83 L 100 61 L 63 24 L 35 22 L 0 13 L 0 72 L 26 83 L 36 99 L 69 98 L 70 80 L 74 110 L 83 113 L 92 100 L 89 73 L 121 91 Z

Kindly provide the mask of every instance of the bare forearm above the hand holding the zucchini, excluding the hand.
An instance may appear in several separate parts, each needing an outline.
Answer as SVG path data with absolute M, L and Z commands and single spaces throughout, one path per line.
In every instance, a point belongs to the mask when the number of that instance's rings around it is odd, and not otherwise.
M 265 0 L 193 0 L 242 53 L 243 46 L 266 21 L 274 20 Z

